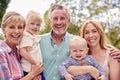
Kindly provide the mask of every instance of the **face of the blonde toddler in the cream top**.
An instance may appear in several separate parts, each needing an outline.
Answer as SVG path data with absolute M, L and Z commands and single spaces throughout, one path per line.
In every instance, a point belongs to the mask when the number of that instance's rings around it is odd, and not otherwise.
M 40 26 L 40 21 L 32 20 L 26 25 L 26 31 L 28 31 L 31 34 L 37 34 L 40 31 Z

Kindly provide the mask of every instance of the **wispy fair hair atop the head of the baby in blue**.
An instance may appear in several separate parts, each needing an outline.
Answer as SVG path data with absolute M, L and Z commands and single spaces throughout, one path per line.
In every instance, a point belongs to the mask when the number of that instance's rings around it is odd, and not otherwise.
M 88 48 L 86 40 L 80 36 L 75 36 L 70 40 L 69 47 L 74 45 L 81 45 L 84 48 Z

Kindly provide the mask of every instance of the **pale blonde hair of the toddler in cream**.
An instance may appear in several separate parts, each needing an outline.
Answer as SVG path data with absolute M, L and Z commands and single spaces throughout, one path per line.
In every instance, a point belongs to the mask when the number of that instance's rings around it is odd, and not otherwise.
M 31 10 L 28 12 L 26 16 L 26 24 L 30 23 L 33 20 L 37 20 L 40 23 L 42 23 L 42 18 L 41 18 L 40 13 Z

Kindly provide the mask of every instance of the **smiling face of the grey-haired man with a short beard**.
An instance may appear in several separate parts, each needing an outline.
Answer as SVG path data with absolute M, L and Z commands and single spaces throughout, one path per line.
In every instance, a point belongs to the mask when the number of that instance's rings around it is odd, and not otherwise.
M 50 23 L 56 34 L 64 34 L 67 31 L 70 19 L 68 13 L 63 9 L 56 9 L 51 13 Z

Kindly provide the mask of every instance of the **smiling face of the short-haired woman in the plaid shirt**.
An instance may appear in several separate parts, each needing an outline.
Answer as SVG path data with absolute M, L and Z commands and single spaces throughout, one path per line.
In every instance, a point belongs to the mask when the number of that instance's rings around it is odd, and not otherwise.
M 5 34 L 5 41 L 8 45 L 17 45 L 23 36 L 24 24 L 11 22 L 2 28 Z

